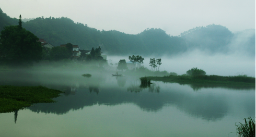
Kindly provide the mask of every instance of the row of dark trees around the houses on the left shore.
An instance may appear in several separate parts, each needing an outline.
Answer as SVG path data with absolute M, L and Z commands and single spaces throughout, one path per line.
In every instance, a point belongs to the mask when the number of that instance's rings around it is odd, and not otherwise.
M 42 47 L 38 42 L 39 38 L 22 27 L 21 15 L 17 26 L 6 26 L 0 34 L 0 64 L 27 66 L 34 61 L 72 59 L 73 44 L 67 43 L 65 47 L 55 46 L 52 48 Z M 106 60 L 101 56 L 101 47 L 92 47 L 90 54 L 82 54 L 82 58 L 87 61 L 100 61 L 101 64 Z

